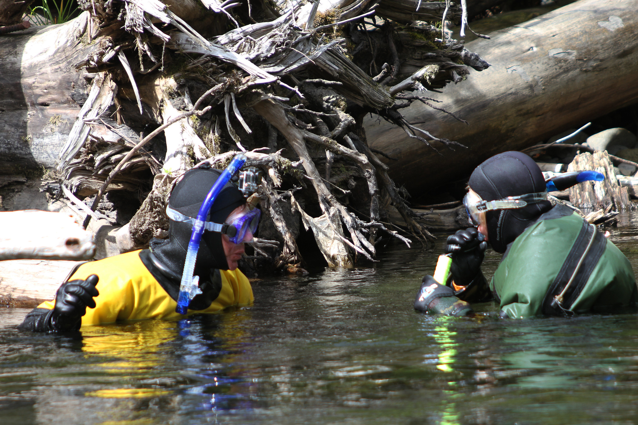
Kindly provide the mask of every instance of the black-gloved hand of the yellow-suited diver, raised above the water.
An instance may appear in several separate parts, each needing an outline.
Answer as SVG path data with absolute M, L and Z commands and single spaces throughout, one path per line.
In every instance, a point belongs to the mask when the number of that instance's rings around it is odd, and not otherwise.
M 86 308 L 95 308 L 93 297 L 100 295 L 95 288 L 98 276 L 91 275 L 86 280 L 70 280 L 61 285 L 56 292 L 56 306 L 50 318 L 52 331 L 70 331 L 78 329 Z

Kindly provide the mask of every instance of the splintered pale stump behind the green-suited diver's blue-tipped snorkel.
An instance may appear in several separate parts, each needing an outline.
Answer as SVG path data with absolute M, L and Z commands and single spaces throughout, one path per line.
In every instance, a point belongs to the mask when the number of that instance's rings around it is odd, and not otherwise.
M 569 200 L 585 213 L 607 210 L 609 206 L 616 211 L 629 210 L 633 204 L 629 199 L 627 187 L 620 187 L 614 173 L 614 166 L 607 151 L 584 152 L 576 155 L 574 161 L 567 167 L 567 171 L 593 170 L 602 173 L 602 182 L 582 182 L 569 189 Z

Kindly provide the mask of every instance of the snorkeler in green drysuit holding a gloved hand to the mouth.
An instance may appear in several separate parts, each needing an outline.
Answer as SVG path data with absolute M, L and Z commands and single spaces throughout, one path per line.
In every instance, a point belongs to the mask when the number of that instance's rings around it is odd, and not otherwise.
M 457 231 L 445 246 L 452 256 L 447 285 L 455 296 L 470 303 L 494 298 L 501 317 L 635 306 L 627 257 L 573 210 L 547 200 L 545 179 L 528 155 L 494 155 L 474 170 L 468 186 L 464 203 L 475 227 Z M 503 254 L 489 284 L 480 270 L 487 243 Z

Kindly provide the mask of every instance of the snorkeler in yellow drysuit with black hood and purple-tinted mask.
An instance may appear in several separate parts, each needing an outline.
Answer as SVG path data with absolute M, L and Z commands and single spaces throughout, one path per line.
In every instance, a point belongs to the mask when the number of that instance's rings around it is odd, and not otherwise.
M 56 298 L 34 308 L 20 329 L 59 332 L 121 320 L 183 317 L 175 307 L 191 235 L 191 224 L 186 220 L 197 217 L 219 174 L 207 168 L 186 172 L 168 202 L 172 212 L 168 239 L 151 240 L 150 249 L 81 264 L 59 287 Z M 237 270 L 244 242 L 253 235 L 248 230 L 237 240 L 226 234 L 237 220 L 241 222 L 250 214 L 242 192 L 228 182 L 212 204 L 208 219 L 230 224 L 222 231 L 204 231 L 202 235 L 194 271 L 202 293 L 191 299 L 188 313 L 218 312 L 253 302 L 248 278 Z

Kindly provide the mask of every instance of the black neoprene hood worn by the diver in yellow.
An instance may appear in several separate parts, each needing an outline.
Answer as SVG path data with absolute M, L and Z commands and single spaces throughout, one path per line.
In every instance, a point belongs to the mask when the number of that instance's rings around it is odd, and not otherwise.
M 220 174 L 221 171 L 218 169 L 195 168 L 186 171 L 170 194 L 168 206 L 188 217 L 197 217 L 202 202 Z M 222 224 L 235 208 L 244 203 L 246 199 L 242 192 L 228 182 L 212 204 L 207 221 Z M 153 254 L 179 275 L 184 269 L 192 231 L 193 227 L 190 224 L 170 220 L 168 239 L 153 240 L 151 243 Z M 208 277 L 212 269 L 228 270 L 228 263 L 221 243 L 221 233 L 204 231 L 197 252 L 195 275 Z

